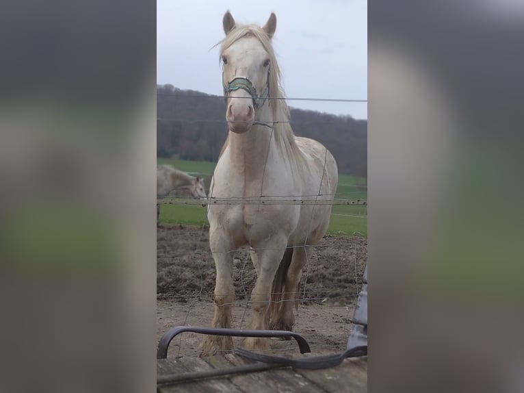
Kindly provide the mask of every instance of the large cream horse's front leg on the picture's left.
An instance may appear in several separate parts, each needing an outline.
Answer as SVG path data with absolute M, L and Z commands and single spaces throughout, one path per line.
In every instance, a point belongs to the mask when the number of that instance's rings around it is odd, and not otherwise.
M 222 236 L 220 231 L 210 231 L 209 245 L 215 259 L 216 286 L 215 286 L 215 316 L 211 321 L 212 327 L 231 327 L 231 307 L 235 301 L 233 287 L 233 247 Z M 219 351 L 231 351 L 233 339 L 226 335 L 208 335 L 202 346 L 200 356 L 211 356 Z

